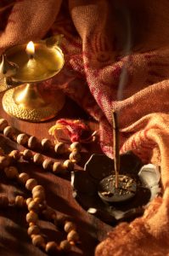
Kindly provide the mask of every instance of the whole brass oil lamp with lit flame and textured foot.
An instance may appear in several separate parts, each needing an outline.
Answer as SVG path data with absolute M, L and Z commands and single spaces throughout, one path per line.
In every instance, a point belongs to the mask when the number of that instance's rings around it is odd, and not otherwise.
M 15 45 L 7 49 L 0 65 L 0 91 L 3 109 L 10 115 L 31 122 L 54 118 L 63 108 L 65 96 L 42 94 L 40 83 L 53 78 L 64 66 L 64 55 L 59 48 L 61 36 L 38 43 Z M 9 90 L 8 90 L 9 89 Z

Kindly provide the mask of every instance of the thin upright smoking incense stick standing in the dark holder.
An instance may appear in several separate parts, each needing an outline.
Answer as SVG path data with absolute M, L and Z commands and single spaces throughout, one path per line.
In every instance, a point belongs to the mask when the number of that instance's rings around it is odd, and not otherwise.
M 113 149 L 114 149 L 114 167 L 115 167 L 115 189 L 119 186 L 119 169 L 120 169 L 120 156 L 119 156 L 119 128 L 117 121 L 117 113 L 113 111 Z

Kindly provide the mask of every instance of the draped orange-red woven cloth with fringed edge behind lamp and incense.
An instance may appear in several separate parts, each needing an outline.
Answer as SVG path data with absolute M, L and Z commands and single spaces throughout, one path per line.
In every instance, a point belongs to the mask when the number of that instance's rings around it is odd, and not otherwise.
M 43 89 L 61 88 L 99 121 L 105 154 L 111 156 L 116 110 L 121 153 L 132 150 L 145 163 L 161 165 L 163 196 L 142 218 L 117 225 L 97 256 L 169 253 L 168 10 L 167 0 L 22 0 L 0 12 L 1 52 L 64 34 L 65 67 Z

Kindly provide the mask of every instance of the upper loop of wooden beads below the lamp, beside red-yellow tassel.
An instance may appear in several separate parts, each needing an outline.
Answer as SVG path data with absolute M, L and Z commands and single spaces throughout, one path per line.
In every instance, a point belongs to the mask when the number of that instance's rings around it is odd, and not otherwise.
M 0 119 L 0 132 L 3 132 L 5 137 L 27 148 L 23 152 L 19 152 L 18 150 L 11 152 L 15 159 L 19 160 L 22 156 L 24 160 L 32 161 L 42 166 L 44 170 L 52 171 L 55 174 L 65 172 L 66 170 L 73 171 L 75 164 L 81 160 L 81 143 L 75 142 L 69 146 L 65 143 L 56 143 L 54 145 L 48 138 L 43 138 L 40 142 L 37 137 L 20 133 L 14 127 L 8 125 L 8 121 L 5 119 Z M 65 161 L 54 161 L 50 158 L 44 158 L 41 153 L 34 154 L 31 150 L 42 153 L 48 151 L 54 157 L 65 157 L 66 154 L 69 154 L 69 159 Z

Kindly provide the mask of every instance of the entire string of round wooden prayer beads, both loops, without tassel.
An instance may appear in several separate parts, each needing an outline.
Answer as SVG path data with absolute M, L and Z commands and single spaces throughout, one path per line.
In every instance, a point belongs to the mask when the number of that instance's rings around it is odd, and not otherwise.
M 31 196 L 25 199 L 22 195 L 17 195 L 14 201 L 9 201 L 8 197 L 2 195 L 0 197 L 0 207 L 26 207 L 28 213 L 26 214 L 26 222 L 28 224 L 28 236 L 31 237 L 32 244 L 40 247 L 46 253 L 61 253 L 70 251 L 71 247 L 79 242 L 79 235 L 76 231 L 76 224 L 70 220 L 56 214 L 52 207 L 48 206 L 46 201 L 45 189 L 41 184 L 37 183 L 37 179 L 31 178 L 26 172 L 19 173 L 15 167 L 17 161 L 28 160 L 37 165 L 42 165 L 44 170 L 52 170 L 54 173 L 64 172 L 65 170 L 73 170 L 74 164 L 80 160 L 80 143 L 71 143 L 66 147 L 65 143 L 57 143 L 54 145 L 48 139 L 42 139 L 41 142 L 37 137 L 28 136 L 25 133 L 19 133 L 14 127 L 9 126 L 7 120 L 0 119 L 0 132 L 3 132 L 5 137 L 12 139 L 16 143 L 25 146 L 27 149 L 20 152 L 19 150 L 12 150 L 9 154 L 4 154 L 3 149 L 0 148 L 0 169 L 3 170 L 8 179 L 18 181 L 18 183 L 25 186 L 25 189 L 31 191 Z M 69 160 L 63 163 L 59 161 L 52 161 L 51 159 L 44 159 L 44 156 L 39 153 L 33 153 L 30 149 L 40 148 L 44 150 L 54 151 L 58 155 L 65 155 L 69 153 Z M 48 219 L 56 226 L 61 226 L 67 234 L 66 239 L 60 241 L 46 241 L 39 225 L 39 218 Z

